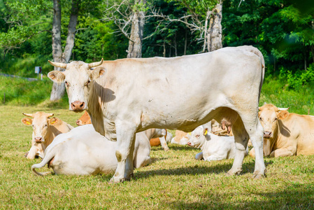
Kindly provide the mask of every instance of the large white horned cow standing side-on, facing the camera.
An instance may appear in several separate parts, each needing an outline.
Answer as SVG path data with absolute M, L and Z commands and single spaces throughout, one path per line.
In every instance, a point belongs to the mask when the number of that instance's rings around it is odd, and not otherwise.
M 117 169 L 110 182 L 129 180 L 133 174 L 136 132 L 152 127 L 192 132 L 212 119 L 232 127 L 234 133 L 236 158 L 228 174 L 241 173 L 251 139 L 256 153 L 254 177 L 264 176 L 263 127 L 257 115 L 264 58 L 257 48 L 50 64 L 66 69 L 50 71 L 48 77 L 65 83 L 69 109 L 87 110 L 95 130 L 117 141 Z

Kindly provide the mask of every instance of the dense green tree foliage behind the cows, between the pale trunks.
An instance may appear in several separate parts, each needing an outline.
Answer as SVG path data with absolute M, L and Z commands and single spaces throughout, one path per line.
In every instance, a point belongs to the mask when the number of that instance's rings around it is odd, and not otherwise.
M 78 0 L 61 1 L 63 48 L 74 1 Z M 118 1 L 80 1 L 71 60 L 95 62 L 101 57 L 127 57 L 129 40 L 108 17 L 108 8 L 115 2 Z M 204 22 L 206 14 L 202 7 L 213 6 L 215 1 L 143 2 L 146 18 L 142 57 L 174 57 L 202 52 L 204 34 L 183 22 L 172 20 L 188 15 L 191 9 L 183 3 L 189 3 L 198 13 L 200 22 Z M 225 0 L 222 45 L 254 45 L 265 57 L 266 73 L 281 74 L 292 87 L 297 88 L 314 78 L 313 7 L 311 0 Z M 43 66 L 44 73 L 50 71 L 47 60 L 52 59 L 52 1 L 1 0 L 0 11 L 1 72 L 31 76 L 34 66 Z M 156 13 L 168 15 L 172 20 L 157 17 Z M 192 20 L 189 21 L 192 24 Z

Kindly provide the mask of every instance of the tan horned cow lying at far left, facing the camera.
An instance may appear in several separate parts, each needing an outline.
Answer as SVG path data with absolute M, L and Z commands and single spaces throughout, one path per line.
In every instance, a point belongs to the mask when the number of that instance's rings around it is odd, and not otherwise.
M 69 132 L 73 127 L 59 118 L 50 118 L 53 113 L 23 113 L 30 118 L 22 118 L 24 125 L 33 127 L 31 139 L 31 149 L 25 154 L 26 158 L 34 159 L 36 155 L 43 158 L 45 148 L 52 142 L 57 135 Z

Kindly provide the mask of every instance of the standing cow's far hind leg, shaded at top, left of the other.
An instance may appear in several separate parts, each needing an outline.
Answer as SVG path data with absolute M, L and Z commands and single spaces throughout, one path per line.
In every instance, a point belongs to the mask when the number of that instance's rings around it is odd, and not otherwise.
M 241 118 L 237 118 L 234 125 L 232 125 L 232 132 L 234 133 L 234 141 L 236 144 L 236 155 L 234 157 L 234 164 L 227 174 L 238 175 L 242 172 L 243 159 L 246 154 L 249 139 Z

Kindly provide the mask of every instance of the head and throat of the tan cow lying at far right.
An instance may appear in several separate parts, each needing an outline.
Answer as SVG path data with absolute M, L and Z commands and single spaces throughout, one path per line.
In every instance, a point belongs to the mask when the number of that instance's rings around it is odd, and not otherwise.
M 264 155 L 271 153 L 271 146 L 273 145 L 273 137 L 278 134 L 279 123 L 278 120 L 282 120 L 287 117 L 289 108 L 278 108 L 273 104 L 264 104 L 259 107 L 259 121 L 264 127 Z

